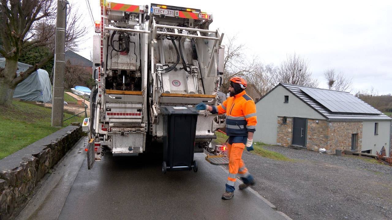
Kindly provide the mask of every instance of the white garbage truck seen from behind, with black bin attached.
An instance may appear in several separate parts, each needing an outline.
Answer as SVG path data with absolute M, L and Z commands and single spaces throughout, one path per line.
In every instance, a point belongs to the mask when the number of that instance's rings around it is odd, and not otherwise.
M 162 171 L 197 171 L 193 154 L 211 148 L 224 116 L 197 111 L 217 105 L 223 33 L 212 14 L 163 4 L 101 1 L 93 37 L 87 165 L 105 153 L 137 156 L 163 150 Z

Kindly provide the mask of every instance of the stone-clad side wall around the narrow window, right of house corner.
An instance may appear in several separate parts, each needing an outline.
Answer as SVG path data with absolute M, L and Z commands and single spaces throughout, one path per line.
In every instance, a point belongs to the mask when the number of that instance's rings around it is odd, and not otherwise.
M 327 150 L 351 150 L 351 135 L 357 133 L 357 151 L 362 149 L 362 122 L 330 122 L 328 123 Z

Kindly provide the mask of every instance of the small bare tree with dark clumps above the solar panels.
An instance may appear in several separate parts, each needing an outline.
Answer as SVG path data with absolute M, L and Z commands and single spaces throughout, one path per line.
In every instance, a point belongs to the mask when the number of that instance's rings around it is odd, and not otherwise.
M 351 90 L 352 78 L 345 77 L 342 72 L 336 74 L 334 69 L 328 69 L 325 70 L 324 77 L 327 80 L 328 89 L 338 91 Z

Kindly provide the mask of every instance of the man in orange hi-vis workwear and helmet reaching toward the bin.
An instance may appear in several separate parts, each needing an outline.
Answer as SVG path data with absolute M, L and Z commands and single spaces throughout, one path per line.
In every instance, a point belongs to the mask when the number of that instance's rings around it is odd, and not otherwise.
M 209 110 L 212 114 L 226 114 L 226 132 L 229 136 L 227 144 L 227 157 L 229 157 L 229 177 L 227 177 L 226 190 L 222 199 L 230 199 L 234 195 L 234 184 L 237 175 L 243 184 L 240 189 L 253 186 L 255 183 L 252 175 L 241 159 L 242 151 L 246 147 L 253 150 L 253 133 L 256 130 L 256 105 L 249 97 L 245 88 L 247 82 L 241 77 L 230 79 L 230 96 L 219 106 L 209 106 L 200 103 L 196 110 Z

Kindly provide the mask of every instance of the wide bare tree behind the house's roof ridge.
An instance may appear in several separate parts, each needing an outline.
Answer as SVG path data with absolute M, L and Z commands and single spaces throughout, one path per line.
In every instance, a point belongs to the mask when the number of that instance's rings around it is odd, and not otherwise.
M 308 70 L 308 67 L 309 62 L 301 56 L 295 53 L 287 55 L 287 60 L 281 63 L 278 70 L 277 83 L 317 87 L 318 81 L 312 77 L 312 72 Z

